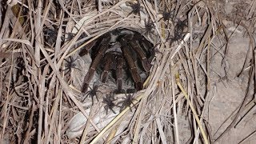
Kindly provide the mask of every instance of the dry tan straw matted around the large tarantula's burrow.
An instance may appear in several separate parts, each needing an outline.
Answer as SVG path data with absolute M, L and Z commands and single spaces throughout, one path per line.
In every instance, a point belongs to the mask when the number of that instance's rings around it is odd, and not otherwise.
M 0 14 L 1 142 L 212 141 L 202 119 L 210 89 L 210 42 L 218 31 L 213 4 L 170 0 L 11 2 L 1 6 Z M 145 31 L 146 22 L 152 22 L 152 30 Z M 154 44 L 155 57 L 145 90 L 134 94 L 134 103 L 120 113 L 116 108 L 118 114 L 106 115 L 103 94 L 93 106 L 90 98 L 82 102 L 80 91 L 91 60 L 89 55 L 80 58 L 78 51 L 120 27 L 143 34 Z M 74 61 L 77 69 L 68 67 L 66 74 L 70 57 L 78 58 Z M 178 74 L 177 82 L 174 74 Z M 199 79 L 206 80 L 206 90 L 201 89 Z M 115 97 L 120 102 L 124 94 Z M 185 124 L 190 128 L 182 127 Z

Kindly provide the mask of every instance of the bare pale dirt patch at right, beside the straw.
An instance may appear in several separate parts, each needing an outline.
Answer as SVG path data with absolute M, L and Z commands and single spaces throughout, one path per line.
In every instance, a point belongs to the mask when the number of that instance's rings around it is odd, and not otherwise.
M 230 26 L 230 30 L 228 31 L 229 34 L 232 34 L 231 30 L 234 30 L 232 26 Z M 238 107 L 242 105 L 242 101 L 246 97 L 250 71 L 249 68 L 247 68 L 248 64 L 246 64 L 247 69 L 242 70 L 242 66 L 246 61 L 247 50 L 249 49 L 250 38 L 248 35 L 241 33 L 239 30 L 234 31 L 226 47 L 226 56 L 224 59 L 222 54 L 225 53 L 226 45 L 221 46 L 220 42 L 217 41 L 214 42 L 214 44 L 217 49 L 220 49 L 220 53 L 214 55 L 210 64 L 210 104 L 205 117 L 206 121 L 209 122 L 213 139 L 218 138 L 235 118 L 234 114 L 237 113 Z M 214 52 L 217 52 L 217 50 L 214 50 Z M 249 53 L 248 58 L 251 58 L 251 55 L 252 54 Z M 242 74 L 238 75 L 241 70 Z M 253 98 L 252 95 L 253 86 L 250 86 L 248 94 L 249 100 Z M 249 101 L 246 100 L 246 102 Z M 218 138 L 214 143 L 239 143 L 250 134 L 252 134 L 252 136 L 246 139 L 244 143 L 255 143 L 256 135 L 253 134 L 256 130 L 255 108 L 256 107 L 253 106 L 235 128 L 233 126 L 230 130 L 227 130 L 226 134 L 223 134 L 223 136 Z M 239 118 L 241 118 L 241 116 L 239 116 L 238 119 Z M 226 119 L 228 120 L 226 121 Z M 223 122 L 224 124 L 222 125 Z

